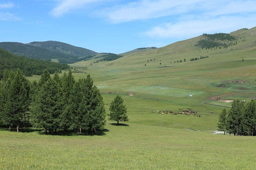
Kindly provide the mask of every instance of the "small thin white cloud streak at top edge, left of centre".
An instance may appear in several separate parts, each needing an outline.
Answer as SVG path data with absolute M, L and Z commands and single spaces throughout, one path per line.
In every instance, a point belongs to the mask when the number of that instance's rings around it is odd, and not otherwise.
M 88 4 L 93 4 L 103 0 L 60 0 L 59 4 L 50 13 L 59 17 L 67 12 L 84 8 Z

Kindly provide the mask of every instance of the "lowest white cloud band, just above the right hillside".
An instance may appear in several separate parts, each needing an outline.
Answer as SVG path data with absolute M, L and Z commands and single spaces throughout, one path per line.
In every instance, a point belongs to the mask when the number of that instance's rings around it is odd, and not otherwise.
M 251 24 L 248 24 L 251 23 Z M 180 21 L 177 23 L 165 23 L 155 26 L 144 34 L 156 39 L 177 38 L 188 39 L 203 33 L 230 33 L 236 29 L 254 27 L 256 15 L 247 16 L 223 16 L 212 19 L 195 19 Z

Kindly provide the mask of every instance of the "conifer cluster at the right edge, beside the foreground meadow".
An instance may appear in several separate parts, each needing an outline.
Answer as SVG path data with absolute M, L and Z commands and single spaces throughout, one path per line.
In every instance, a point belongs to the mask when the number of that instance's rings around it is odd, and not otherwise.
M 246 105 L 234 100 L 230 110 L 224 108 L 220 113 L 218 128 L 229 134 L 256 136 L 256 100 L 252 99 Z

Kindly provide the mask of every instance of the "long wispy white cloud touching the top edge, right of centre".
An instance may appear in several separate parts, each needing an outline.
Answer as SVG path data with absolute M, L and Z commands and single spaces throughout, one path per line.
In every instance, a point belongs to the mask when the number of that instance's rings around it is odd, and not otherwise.
M 202 1 L 183 0 L 182 2 L 173 2 L 170 0 L 140 0 L 106 9 L 103 15 L 108 16 L 113 23 L 159 18 L 193 10 L 192 4 L 199 4 Z

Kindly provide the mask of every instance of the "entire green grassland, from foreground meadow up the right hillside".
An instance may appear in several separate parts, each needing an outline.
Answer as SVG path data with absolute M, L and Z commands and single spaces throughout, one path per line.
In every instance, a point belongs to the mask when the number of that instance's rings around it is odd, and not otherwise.
M 255 169 L 255 137 L 213 134 L 225 107 L 204 104 L 228 95 L 256 98 L 255 30 L 231 33 L 246 41 L 226 49 L 199 49 L 198 36 L 110 62 L 71 64 L 91 75 L 107 113 L 120 94 L 129 121 L 121 126 L 107 121 L 105 130 L 92 136 L 2 128 L 0 169 Z M 189 61 L 200 56 L 209 57 Z M 193 110 L 200 117 L 157 112 L 166 110 Z

